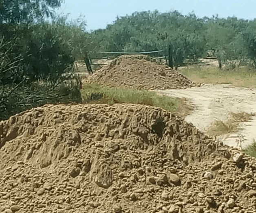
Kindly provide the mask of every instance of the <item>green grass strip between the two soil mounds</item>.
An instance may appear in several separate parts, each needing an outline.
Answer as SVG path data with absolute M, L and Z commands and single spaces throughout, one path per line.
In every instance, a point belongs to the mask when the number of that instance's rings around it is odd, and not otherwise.
M 154 91 L 105 87 L 98 84 L 85 84 L 81 90 L 84 103 L 87 104 L 145 104 L 160 107 L 179 116 L 185 116 L 192 111 L 185 99 L 160 96 Z

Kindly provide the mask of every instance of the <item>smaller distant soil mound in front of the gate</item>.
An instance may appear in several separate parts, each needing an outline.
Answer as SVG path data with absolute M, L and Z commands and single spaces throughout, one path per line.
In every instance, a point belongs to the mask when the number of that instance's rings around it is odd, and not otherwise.
M 182 89 L 195 84 L 170 67 L 152 62 L 148 56 L 124 55 L 88 76 L 87 83 L 136 89 Z

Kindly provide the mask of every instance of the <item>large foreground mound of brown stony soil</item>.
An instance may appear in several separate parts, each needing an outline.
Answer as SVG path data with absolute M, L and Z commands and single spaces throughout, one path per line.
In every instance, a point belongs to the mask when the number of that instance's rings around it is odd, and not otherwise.
M 0 212 L 253 213 L 255 169 L 154 107 L 46 105 L 0 122 Z

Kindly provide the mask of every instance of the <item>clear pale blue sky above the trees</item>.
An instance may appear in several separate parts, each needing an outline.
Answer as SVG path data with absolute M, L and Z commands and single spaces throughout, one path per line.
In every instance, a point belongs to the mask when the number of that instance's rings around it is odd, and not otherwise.
M 238 18 L 254 19 L 256 0 L 65 0 L 57 13 L 70 13 L 69 19 L 80 15 L 87 23 L 87 30 L 105 28 L 117 15 L 123 16 L 135 11 L 160 12 L 178 10 L 182 14 L 192 11 L 199 16 L 219 17 L 235 15 Z

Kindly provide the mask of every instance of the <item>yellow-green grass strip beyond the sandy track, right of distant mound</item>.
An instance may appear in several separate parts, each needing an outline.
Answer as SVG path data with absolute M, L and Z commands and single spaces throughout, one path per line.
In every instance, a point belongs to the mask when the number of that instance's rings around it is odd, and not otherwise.
M 236 87 L 256 87 L 256 72 L 248 67 L 236 70 L 219 70 L 217 67 L 188 67 L 179 72 L 196 83 L 231 84 Z

